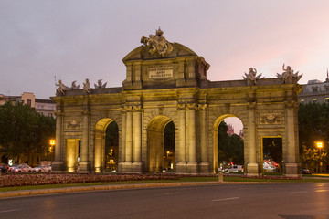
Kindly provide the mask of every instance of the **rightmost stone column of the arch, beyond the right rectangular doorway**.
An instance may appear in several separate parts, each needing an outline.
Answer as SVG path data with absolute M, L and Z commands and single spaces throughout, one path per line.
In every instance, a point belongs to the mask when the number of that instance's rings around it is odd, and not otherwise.
M 295 109 L 298 108 L 298 103 L 296 101 L 286 101 L 285 102 L 285 126 L 286 126 L 286 161 L 284 174 L 286 176 L 298 177 L 301 173 L 299 172 L 299 163 L 297 163 L 298 154 L 298 142 L 296 141 L 296 131 L 298 129 L 295 127 Z

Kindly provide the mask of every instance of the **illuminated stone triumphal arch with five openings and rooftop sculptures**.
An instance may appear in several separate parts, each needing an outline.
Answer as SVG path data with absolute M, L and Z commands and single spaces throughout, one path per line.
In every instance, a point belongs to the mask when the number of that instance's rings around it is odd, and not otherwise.
M 88 79 L 81 89 L 75 81 L 69 88 L 59 80 L 52 98 L 57 104 L 54 170 L 104 171 L 105 130 L 116 122 L 117 172 L 161 172 L 164 127 L 173 122 L 175 172 L 217 172 L 218 125 L 235 116 L 244 125 L 246 174 L 261 174 L 261 140 L 278 136 L 284 174 L 299 175 L 298 72 L 283 66 L 277 78 L 260 78 L 249 68 L 243 80 L 209 81 L 206 60 L 166 41 L 160 28 L 141 43 L 122 59 L 126 78 L 120 88 L 106 88 L 99 80 L 91 89 Z

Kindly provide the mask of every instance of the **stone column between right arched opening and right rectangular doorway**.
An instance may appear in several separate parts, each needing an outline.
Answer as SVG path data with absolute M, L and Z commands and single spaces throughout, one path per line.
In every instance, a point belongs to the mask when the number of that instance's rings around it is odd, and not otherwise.
M 247 163 L 247 175 L 259 175 L 259 165 L 256 157 L 256 102 L 249 102 L 248 108 L 248 147 L 249 147 L 249 162 Z

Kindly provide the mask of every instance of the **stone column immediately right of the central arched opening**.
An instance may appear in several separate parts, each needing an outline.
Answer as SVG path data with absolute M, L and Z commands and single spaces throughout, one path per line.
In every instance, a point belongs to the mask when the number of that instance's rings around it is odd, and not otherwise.
M 178 145 L 175 149 L 176 172 L 186 172 L 186 104 L 178 104 Z

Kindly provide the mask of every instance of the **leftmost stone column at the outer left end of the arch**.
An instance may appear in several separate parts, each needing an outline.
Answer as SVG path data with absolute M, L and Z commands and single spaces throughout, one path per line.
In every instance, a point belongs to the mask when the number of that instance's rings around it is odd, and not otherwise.
M 53 172 L 63 172 L 63 154 L 62 150 L 64 150 L 64 142 L 62 139 L 63 136 L 63 113 L 60 110 L 55 111 L 56 115 L 56 141 L 55 141 L 55 161 L 52 162 L 52 170 Z

